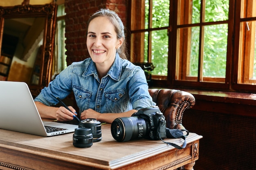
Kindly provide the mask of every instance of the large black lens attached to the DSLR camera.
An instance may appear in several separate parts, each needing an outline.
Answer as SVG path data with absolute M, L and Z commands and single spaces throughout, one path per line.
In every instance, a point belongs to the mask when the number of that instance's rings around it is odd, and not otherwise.
M 111 124 L 112 137 L 117 141 L 142 138 L 148 131 L 146 121 L 141 117 L 120 117 Z

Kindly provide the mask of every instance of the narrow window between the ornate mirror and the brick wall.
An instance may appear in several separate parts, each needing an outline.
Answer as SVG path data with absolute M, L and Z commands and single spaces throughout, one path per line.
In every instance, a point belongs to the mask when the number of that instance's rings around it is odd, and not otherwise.
M 64 3 L 58 4 L 52 79 L 67 67 L 67 55 L 65 55 L 65 15 Z

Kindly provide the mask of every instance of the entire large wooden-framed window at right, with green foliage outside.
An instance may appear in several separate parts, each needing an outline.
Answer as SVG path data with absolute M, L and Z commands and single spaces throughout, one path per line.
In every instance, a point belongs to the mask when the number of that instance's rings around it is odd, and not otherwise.
M 131 61 L 153 86 L 256 91 L 256 1 L 130 0 Z

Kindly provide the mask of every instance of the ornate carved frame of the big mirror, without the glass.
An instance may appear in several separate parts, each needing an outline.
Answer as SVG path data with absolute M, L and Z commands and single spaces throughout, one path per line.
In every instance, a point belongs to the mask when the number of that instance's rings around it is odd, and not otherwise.
M 28 84 L 29 89 L 36 97 L 41 89 L 48 86 L 52 76 L 52 59 L 54 53 L 54 37 L 56 25 L 57 5 L 55 3 L 44 5 L 16 5 L 13 7 L 0 7 L 0 53 L 2 47 L 2 36 L 4 31 L 4 20 L 11 18 L 45 18 L 45 29 L 42 45 L 42 63 L 40 67 L 40 79 L 38 85 Z

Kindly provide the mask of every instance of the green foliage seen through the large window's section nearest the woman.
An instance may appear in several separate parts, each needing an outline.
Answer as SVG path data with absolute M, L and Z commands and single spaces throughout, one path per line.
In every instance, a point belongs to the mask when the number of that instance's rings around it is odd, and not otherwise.
M 169 25 L 169 0 L 153 0 L 152 9 L 152 26 L 151 28 L 166 27 Z M 145 13 L 145 28 L 148 28 L 148 8 L 149 2 L 145 1 L 146 13 Z M 168 35 L 167 29 L 152 31 L 152 63 L 155 69 L 152 71 L 152 75 L 164 75 L 167 76 L 168 71 Z M 145 33 L 145 48 L 144 59 L 147 62 L 148 51 L 148 32 Z

